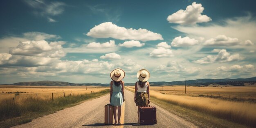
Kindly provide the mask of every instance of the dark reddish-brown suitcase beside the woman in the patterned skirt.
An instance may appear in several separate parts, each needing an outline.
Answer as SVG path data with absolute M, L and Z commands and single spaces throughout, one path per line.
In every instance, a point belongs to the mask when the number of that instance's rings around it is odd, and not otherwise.
M 157 108 L 149 105 L 139 107 L 139 117 L 141 125 L 157 124 Z

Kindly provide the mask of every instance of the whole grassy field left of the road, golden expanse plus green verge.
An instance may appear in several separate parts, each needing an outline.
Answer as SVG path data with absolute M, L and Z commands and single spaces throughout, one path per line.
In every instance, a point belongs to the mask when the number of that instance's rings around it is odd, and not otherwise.
M 83 86 L 0 85 L 0 128 L 24 124 L 34 118 L 102 96 L 109 91 L 108 87 L 94 86 L 87 86 L 86 89 Z

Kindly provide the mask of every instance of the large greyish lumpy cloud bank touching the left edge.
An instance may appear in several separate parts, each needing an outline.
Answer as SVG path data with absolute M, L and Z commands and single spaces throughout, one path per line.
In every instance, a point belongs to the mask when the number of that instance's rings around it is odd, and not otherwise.
M 0 54 L 0 65 L 31 67 L 49 65 L 65 56 L 61 45 L 63 41 L 48 43 L 45 40 L 20 42 L 12 47 L 9 54 Z

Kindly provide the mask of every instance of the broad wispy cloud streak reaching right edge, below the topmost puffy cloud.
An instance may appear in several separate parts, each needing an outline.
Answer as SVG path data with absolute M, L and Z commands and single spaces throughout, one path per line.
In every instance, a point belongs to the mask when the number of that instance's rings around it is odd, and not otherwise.
M 236 37 L 240 40 L 256 42 L 256 21 L 251 14 L 244 17 L 224 19 L 218 22 L 209 23 L 207 26 L 178 25 L 173 28 L 194 38 L 204 37 L 208 40 L 218 35 L 225 35 L 227 37 Z

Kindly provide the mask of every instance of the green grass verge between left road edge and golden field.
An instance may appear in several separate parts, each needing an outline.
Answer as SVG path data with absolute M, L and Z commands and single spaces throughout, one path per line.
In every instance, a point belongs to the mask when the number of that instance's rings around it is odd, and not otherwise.
M 75 106 L 82 101 L 109 93 L 109 89 L 91 94 L 59 97 L 53 101 L 26 97 L 22 101 L 3 100 L 0 103 L 0 128 L 25 124 L 32 119 Z

